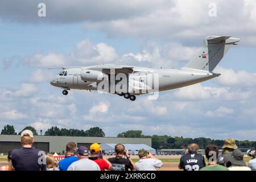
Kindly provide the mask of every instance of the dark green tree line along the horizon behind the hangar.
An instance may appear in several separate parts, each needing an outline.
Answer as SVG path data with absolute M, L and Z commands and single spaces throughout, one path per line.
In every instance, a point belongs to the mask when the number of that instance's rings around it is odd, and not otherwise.
M 38 135 L 36 129 L 31 126 L 24 127 L 23 130 L 31 130 L 34 135 Z M 22 130 L 22 131 L 23 131 Z M 20 131 L 18 134 L 20 135 Z M 1 131 L 2 135 L 16 135 L 14 126 L 6 125 Z M 105 137 L 104 131 L 100 127 L 91 127 L 89 130 L 78 129 L 59 129 L 57 126 L 52 126 L 44 133 L 46 136 L 67 136 L 67 137 Z M 152 147 L 159 149 L 175 149 L 175 148 L 187 148 L 190 143 L 197 143 L 200 148 L 205 148 L 208 144 L 216 144 L 221 147 L 224 144 L 224 140 L 216 140 L 210 138 L 183 138 L 183 137 L 171 137 L 168 135 L 143 135 L 141 130 L 129 130 L 117 135 L 119 138 L 151 138 Z M 243 140 L 236 140 L 237 146 L 240 148 L 255 148 L 256 142 Z

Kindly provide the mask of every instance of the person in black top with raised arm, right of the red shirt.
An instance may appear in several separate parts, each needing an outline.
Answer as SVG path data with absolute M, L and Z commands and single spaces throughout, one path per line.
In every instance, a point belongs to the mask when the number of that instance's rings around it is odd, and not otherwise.
M 109 162 L 112 163 L 113 171 L 128 171 L 128 169 L 133 171 L 135 169 L 135 164 L 123 144 L 117 144 L 115 146 L 115 153 L 117 154 L 115 158 L 109 159 Z M 126 156 L 126 159 L 123 156 Z

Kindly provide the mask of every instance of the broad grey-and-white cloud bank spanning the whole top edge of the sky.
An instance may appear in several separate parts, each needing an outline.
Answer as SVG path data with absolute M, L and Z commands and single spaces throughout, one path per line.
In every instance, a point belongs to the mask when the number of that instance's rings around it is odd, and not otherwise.
M 192 0 L 132 0 L 126 3 L 117 0 L 97 3 L 46 0 L 44 3 L 48 14 L 44 18 L 35 16 L 38 2 L 31 1 L 2 3 L 0 18 L 26 23 L 83 22 L 85 30 L 101 30 L 115 38 L 201 40 L 202 35 L 232 34 L 240 35 L 245 40 L 243 43 L 256 45 L 251 41 L 256 38 L 254 0 L 198 0 L 197 3 Z M 217 5 L 216 17 L 209 16 L 210 3 Z

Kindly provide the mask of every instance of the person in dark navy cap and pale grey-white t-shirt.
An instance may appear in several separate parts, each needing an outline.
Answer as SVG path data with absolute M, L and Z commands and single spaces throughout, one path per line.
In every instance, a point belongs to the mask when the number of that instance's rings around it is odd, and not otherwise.
M 84 146 L 80 146 L 77 149 L 77 156 L 79 160 L 73 162 L 69 167 L 68 171 L 100 171 L 101 168 L 96 162 L 89 159 L 88 150 Z

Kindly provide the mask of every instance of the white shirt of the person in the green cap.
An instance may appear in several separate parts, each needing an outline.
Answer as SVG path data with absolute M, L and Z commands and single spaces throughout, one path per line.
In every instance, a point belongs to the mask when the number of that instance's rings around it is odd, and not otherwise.
M 139 162 L 135 164 L 137 171 L 156 171 L 156 168 L 162 166 L 162 161 L 158 159 L 139 159 Z

